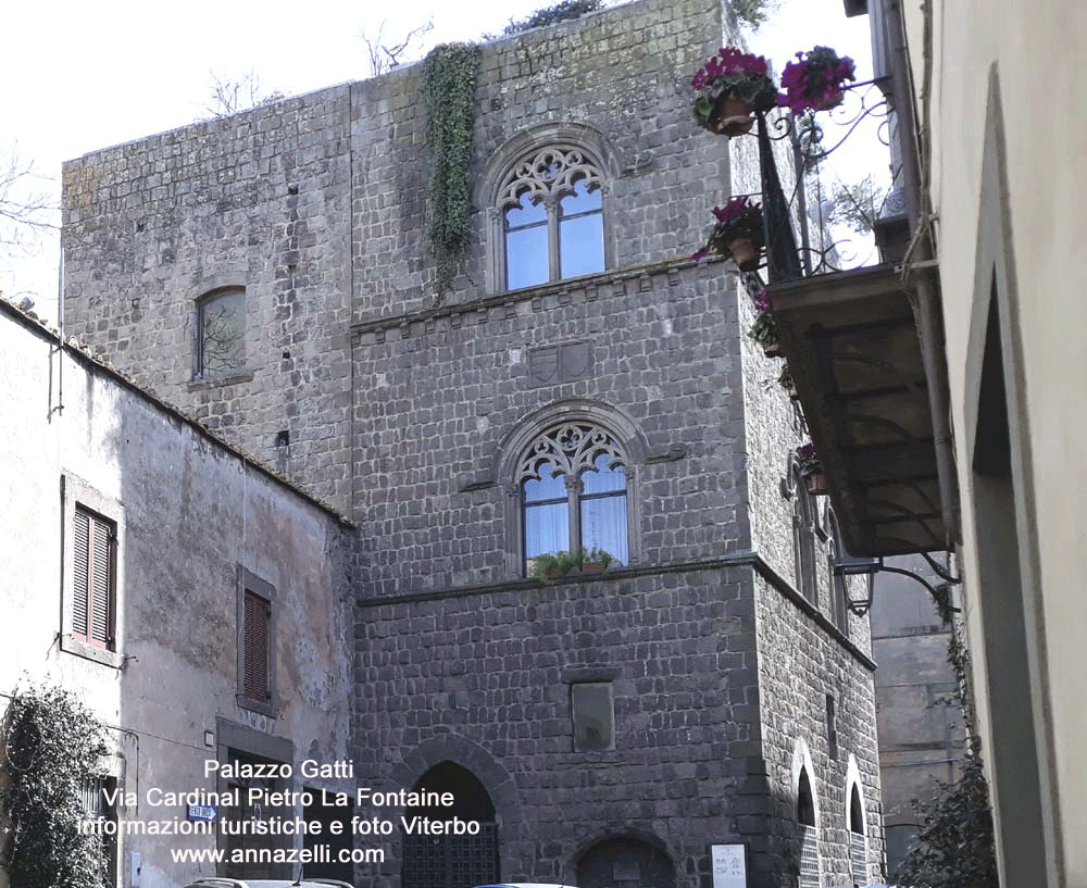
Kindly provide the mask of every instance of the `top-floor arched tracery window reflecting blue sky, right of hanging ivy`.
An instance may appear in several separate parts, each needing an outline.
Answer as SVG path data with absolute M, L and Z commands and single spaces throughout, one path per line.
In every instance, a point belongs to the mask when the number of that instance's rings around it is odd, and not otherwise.
M 583 149 L 551 145 L 513 165 L 499 189 L 507 289 L 604 270 L 603 182 Z

